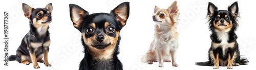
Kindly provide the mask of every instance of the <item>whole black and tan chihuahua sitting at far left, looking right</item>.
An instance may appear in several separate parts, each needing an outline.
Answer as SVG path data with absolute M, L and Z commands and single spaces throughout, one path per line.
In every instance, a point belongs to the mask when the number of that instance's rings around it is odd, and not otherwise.
M 37 62 L 45 62 L 46 66 L 51 66 L 48 62 L 51 42 L 48 29 L 52 21 L 52 4 L 48 4 L 45 8 L 36 9 L 24 3 L 22 5 L 24 15 L 29 19 L 30 30 L 22 39 L 16 55 L 9 56 L 9 61 L 16 60 L 26 65 L 32 62 L 34 68 L 40 68 Z M 44 60 L 42 60 L 43 57 Z

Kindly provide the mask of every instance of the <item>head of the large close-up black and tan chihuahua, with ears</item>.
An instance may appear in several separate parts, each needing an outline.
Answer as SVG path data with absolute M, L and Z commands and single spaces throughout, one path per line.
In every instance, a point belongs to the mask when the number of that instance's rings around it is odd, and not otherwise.
M 118 5 L 110 13 L 89 14 L 81 7 L 70 4 L 73 25 L 82 33 L 83 43 L 89 49 L 105 50 L 115 47 L 119 32 L 129 17 L 129 3 Z

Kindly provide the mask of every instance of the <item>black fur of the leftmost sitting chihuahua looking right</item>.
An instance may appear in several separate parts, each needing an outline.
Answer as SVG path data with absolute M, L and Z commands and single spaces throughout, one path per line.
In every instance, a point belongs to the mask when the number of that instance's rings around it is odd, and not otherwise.
M 50 3 L 48 5 L 52 9 L 52 4 Z M 26 11 L 28 9 L 31 9 L 31 11 Z M 50 41 L 50 33 L 48 31 L 48 29 L 49 29 L 48 25 L 52 21 L 51 11 L 48 13 L 47 11 L 49 11 L 49 10 L 47 8 L 34 9 L 34 8 L 29 7 L 27 4 L 23 4 L 23 11 L 24 11 L 24 13 L 30 14 L 29 16 L 26 16 L 26 14 L 25 14 L 25 16 L 29 19 L 30 30 L 22 39 L 22 42 L 20 43 L 18 49 L 16 50 L 16 55 L 9 56 L 9 61 L 16 60 L 19 63 L 22 63 L 22 59 L 24 59 L 24 61 L 29 61 L 31 63 L 31 62 L 33 62 L 32 59 L 30 58 L 32 55 L 35 55 L 36 60 L 37 60 L 38 59 L 37 57 L 39 57 L 41 54 L 44 54 L 45 52 L 49 51 L 49 45 L 44 45 L 44 43 L 46 41 Z M 42 18 L 37 18 L 37 17 L 39 17 L 38 12 L 40 12 L 40 11 L 43 12 L 40 14 L 42 14 L 42 17 L 44 17 L 44 20 Z M 33 19 L 35 19 L 35 20 L 33 20 Z M 38 22 L 38 20 L 42 20 L 43 22 Z M 33 23 L 33 22 L 35 22 L 35 23 Z M 47 28 L 44 30 L 41 29 L 41 31 L 37 31 L 37 28 L 40 28 L 42 26 L 41 24 L 48 24 L 47 26 L 44 26 Z M 37 26 L 37 27 L 35 27 L 35 26 Z M 45 31 L 45 32 L 42 32 L 42 31 Z M 41 43 L 41 45 L 38 45 L 34 48 L 33 44 L 31 44 L 31 43 Z M 32 55 L 30 55 L 30 52 Z M 33 52 L 34 52 L 34 54 L 33 54 Z M 26 56 L 27 58 L 30 58 L 30 59 L 22 58 L 22 56 Z M 37 63 L 33 63 L 33 64 L 37 64 Z M 51 65 L 47 65 L 47 66 L 51 66 Z M 34 68 L 39 68 L 39 66 L 34 67 Z

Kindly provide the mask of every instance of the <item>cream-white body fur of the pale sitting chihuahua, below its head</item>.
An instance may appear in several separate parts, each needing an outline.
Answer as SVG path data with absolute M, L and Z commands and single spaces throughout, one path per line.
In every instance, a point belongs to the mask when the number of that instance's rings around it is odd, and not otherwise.
M 150 50 L 142 57 L 142 62 L 159 61 L 159 66 L 162 67 L 163 62 L 169 62 L 170 57 L 172 57 L 173 66 L 178 66 L 176 63 L 176 52 L 179 43 L 178 37 L 174 37 L 177 29 L 172 28 L 173 26 L 176 26 L 176 24 L 173 25 L 172 22 L 156 22 L 155 28 L 160 32 L 155 29 L 154 41 L 151 43 Z

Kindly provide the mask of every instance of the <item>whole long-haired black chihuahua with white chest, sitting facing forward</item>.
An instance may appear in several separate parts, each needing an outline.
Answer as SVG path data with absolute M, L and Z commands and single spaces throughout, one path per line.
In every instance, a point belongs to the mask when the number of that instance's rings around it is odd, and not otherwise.
M 235 33 L 238 27 L 238 11 L 238 2 L 234 2 L 228 10 L 218 10 L 209 2 L 207 17 L 212 32 L 209 61 L 198 62 L 197 65 L 214 66 L 214 69 L 227 66 L 228 69 L 232 69 L 232 66 L 245 65 L 249 62 L 246 58 L 240 57 L 238 48 L 238 36 Z

